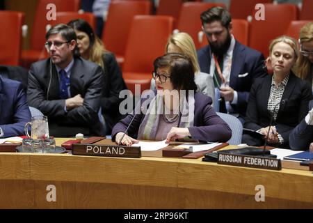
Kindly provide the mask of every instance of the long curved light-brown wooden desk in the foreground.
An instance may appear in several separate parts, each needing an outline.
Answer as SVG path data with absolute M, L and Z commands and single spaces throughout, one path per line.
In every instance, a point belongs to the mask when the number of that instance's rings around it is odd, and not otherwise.
M 56 186 L 56 202 L 47 201 L 47 185 Z M 265 202 L 255 201 L 256 185 Z M 312 185 L 311 171 L 201 159 L 0 154 L 0 208 L 313 208 Z

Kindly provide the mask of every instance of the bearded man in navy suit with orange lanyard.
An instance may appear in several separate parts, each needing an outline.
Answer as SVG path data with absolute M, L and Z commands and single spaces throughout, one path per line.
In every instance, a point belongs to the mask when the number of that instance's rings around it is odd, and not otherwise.
M 224 8 L 204 11 L 201 21 L 209 45 L 197 52 L 200 70 L 214 74 L 220 112 L 236 114 L 243 123 L 252 83 L 266 75 L 264 56 L 234 39 L 232 17 Z

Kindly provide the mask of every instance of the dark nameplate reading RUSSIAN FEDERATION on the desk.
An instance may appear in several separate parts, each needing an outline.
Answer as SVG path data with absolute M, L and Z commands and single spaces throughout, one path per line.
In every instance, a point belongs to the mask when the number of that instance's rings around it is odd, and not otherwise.
M 218 152 L 218 164 L 272 170 L 282 169 L 281 160 L 275 158 L 252 155 L 235 155 L 222 152 Z

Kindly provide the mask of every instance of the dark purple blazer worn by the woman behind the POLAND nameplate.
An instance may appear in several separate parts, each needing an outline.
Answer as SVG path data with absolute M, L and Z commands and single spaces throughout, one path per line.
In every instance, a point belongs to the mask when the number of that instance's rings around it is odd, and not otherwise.
M 147 99 L 141 98 L 141 105 L 145 100 Z M 225 123 L 225 121 L 223 121 L 223 119 L 220 118 L 216 112 L 214 112 L 211 104 L 212 100 L 209 96 L 202 93 L 195 93 L 194 126 L 188 128 L 191 133 L 191 139 L 197 139 L 200 141 L 228 141 L 230 137 L 232 137 L 232 130 L 230 130 L 227 123 Z M 115 135 L 118 134 L 118 132 L 125 132 L 133 116 L 134 114 L 129 114 L 113 127 L 113 141 L 115 140 Z M 134 121 L 131 123 L 127 131 L 127 134 L 130 137 L 135 139 L 137 138 L 139 126 L 141 125 L 144 116 L 144 114 L 136 114 Z

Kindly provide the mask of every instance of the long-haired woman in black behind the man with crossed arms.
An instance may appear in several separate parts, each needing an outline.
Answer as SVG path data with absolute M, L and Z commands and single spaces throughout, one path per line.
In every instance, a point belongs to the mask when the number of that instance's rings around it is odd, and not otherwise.
M 121 102 L 120 91 L 127 89 L 122 72 L 114 54 L 106 51 L 88 22 L 81 19 L 72 20 L 68 25 L 77 35 L 77 46 L 81 57 L 97 63 L 104 71 L 100 120 L 106 126 L 106 134 L 111 134 L 113 126 L 123 118 L 118 110 Z

